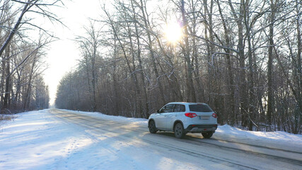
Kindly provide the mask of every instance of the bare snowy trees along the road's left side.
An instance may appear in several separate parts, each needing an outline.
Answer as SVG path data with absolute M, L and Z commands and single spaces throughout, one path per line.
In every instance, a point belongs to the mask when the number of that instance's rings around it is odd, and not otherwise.
M 50 32 L 35 23 L 42 16 L 58 21 L 50 6 L 59 1 L 0 0 L 0 113 L 49 107 L 42 72 Z M 40 32 L 39 36 L 36 32 Z

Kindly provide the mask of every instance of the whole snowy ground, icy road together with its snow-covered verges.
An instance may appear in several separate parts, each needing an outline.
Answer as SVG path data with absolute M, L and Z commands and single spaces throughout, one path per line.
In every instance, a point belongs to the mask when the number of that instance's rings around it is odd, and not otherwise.
M 302 135 L 223 125 L 180 140 L 146 119 L 32 111 L 0 122 L 0 169 L 302 169 Z

